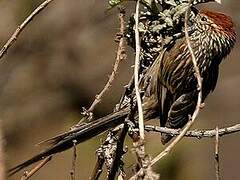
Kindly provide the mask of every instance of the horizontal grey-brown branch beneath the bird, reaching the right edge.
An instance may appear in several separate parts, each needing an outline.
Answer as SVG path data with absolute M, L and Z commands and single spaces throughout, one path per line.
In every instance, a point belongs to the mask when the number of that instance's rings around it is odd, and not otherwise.
M 153 126 L 153 125 L 146 125 L 145 131 L 147 132 L 158 132 L 158 133 L 165 133 L 172 136 L 179 135 L 182 130 L 180 129 L 170 129 L 166 127 L 159 127 L 159 126 Z M 219 136 L 225 136 L 233 133 L 240 132 L 240 124 L 236 124 L 234 126 L 224 127 L 218 130 Z M 194 138 L 213 138 L 217 134 L 216 129 L 212 130 L 193 130 L 193 131 L 187 131 L 187 133 L 184 135 L 186 137 L 194 137 Z

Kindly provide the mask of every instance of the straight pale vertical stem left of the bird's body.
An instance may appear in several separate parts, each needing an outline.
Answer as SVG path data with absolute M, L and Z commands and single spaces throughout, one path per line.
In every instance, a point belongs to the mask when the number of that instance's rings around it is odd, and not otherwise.
M 135 12 L 135 40 L 136 40 L 136 55 L 135 55 L 135 65 L 134 65 L 134 86 L 137 98 L 138 106 L 138 121 L 139 121 L 139 134 L 140 138 L 144 140 L 144 119 L 143 119 L 143 109 L 142 109 L 142 99 L 139 90 L 139 61 L 140 61 L 140 39 L 139 39 L 139 4 L 140 0 L 136 3 L 136 12 Z

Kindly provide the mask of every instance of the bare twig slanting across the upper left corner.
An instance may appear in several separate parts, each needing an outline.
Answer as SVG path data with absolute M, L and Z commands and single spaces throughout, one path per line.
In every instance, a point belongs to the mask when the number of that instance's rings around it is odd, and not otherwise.
M 43 9 L 45 9 L 53 0 L 46 0 L 42 4 L 40 4 L 24 21 L 18 26 L 15 32 L 12 34 L 10 39 L 6 42 L 6 44 L 0 50 L 0 59 L 7 53 L 8 49 L 13 45 L 13 43 L 17 40 L 20 33 L 24 30 L 24 28 L 34 19 L 36 15 L 38 15 Z

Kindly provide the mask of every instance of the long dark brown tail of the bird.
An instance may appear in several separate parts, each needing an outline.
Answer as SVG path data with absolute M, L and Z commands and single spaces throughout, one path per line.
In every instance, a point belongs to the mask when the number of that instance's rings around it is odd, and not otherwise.
M 9 169 L 8 175 L 11 176 L 35 162 L 38 162 L 50 155 L 60 153 L 73 147 L 73 140 L 76 140 L 77 142 L 76 144 L 79 144 L 105 132 L 110 128 L 122 124 L 124 122 L 124 119 L 127 117 L 128 113 L 129 113 L 128 109 L 123 109 L 121 111 L 112 113 L 90 123 L 80 125 L 79 127 L 72 131 L 48 139 L 45 142 L 47 142 L 50 145 L 49 148 L 43 150 L 41 153 L 37 154 L 31 159 Z

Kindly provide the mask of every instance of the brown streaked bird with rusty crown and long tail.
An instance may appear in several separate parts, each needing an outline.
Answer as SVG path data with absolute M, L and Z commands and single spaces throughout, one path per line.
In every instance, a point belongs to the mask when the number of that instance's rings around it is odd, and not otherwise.
M 231 52 L 236 42 L 236 31 L 231 17 L 223 13 L 196 8 L 191 10 L 193 17 L 188 22 L 188 33 L 202 77 L 203 103 L 216 87 L 219 65 Z M 158 118 L 162 127 L 184 127 L 189 115 L 194 112 L 198 95 L 194 66 L 185 36 L 179 36 L 171 46 L 159 52 L 144 74 L 140 86 L 144 84 L 148 84 L 143 96 L 144 119 Z M 130 107 L 125 107 L 47 140 L 47 149 L 11 168 L 9 175 L 73 147 L 73 140 L 79 144 L 124 123 L 129 113 Z M 168 134 L 162 134 L 162 144 L 171 138 Z

